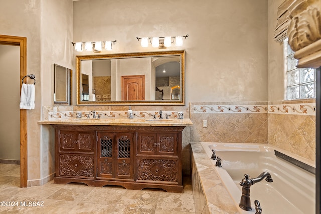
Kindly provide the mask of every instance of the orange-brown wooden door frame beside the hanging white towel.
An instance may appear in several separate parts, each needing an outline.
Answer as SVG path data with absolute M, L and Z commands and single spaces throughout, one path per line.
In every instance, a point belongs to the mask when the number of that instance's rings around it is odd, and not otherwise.
M 20 80 L 27 75 L 27 37 L 0 35 L 1 45 L 20 47 Z M 20 81 L 20 88 L 22 82 Z M 27 110 L 20 109 L 20 187 L 27 187 Z

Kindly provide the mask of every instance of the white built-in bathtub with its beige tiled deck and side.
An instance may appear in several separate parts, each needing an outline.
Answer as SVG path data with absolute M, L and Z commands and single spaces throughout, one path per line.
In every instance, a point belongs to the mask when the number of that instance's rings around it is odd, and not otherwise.
M 221 213 L 213 208 L 218 206 L 221 208 L 219 203 L 221 201 L 217 198 L 225 197 L 226 190 L 239 213 L 255 213 L 254 200 L 256 199 L 260 201 L 262 209 L 267 213 L 314 213 L 315 175 L 276 157 L 274 149 L 314 167 L 315 170 L 314 162 L 276 147 L 264 145 L 191 143 L 196 213 Z M 221 157 L 222 168 L 215 167 L 216 161 L 210 160 L 211 149 L 215 149 L 216 155 Z M 248 152 L 251 154 L 247 154 Z M 211 165 L 208 165 L 206 159 Z M 244 178 L 245 173 L 249 174 L 250 178 L 254 178 L 263 171 L 270 172 L 273 182 L 268 183 L 262 180 L 252 186 L 250 192 L 252 211 L 240 209 L 238 204 L 241 199 L 242 187 L 239 186 L 239 182 Z M 220 178 L 219 181 L 216 180 L 217 177 Z M 305 182 L 301 182 L 302 180 Z M 221 182 L 224 184 L 224 189 L 218 191 Z M 262 191 L 262 188 L 265 190 Z M 198 207 L 200 204 L 202 206 Z M 202 210 L 204 211 L 202 212 Z M 226 210 L 224 209 L 224 211 Z M 235 213 L 234 210 L 227 212 Z

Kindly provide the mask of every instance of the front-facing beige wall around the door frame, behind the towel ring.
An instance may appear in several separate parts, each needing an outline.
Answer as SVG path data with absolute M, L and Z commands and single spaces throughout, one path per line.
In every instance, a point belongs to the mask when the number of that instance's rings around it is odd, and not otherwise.
M 27 37 L 27 73 L 35 74 L 38 81 L 35 85 L 35 109 L 27 111 L 28 179 L 40 178 L 41 171 L 41 133 L 40 126 L 37 125 L 41 117 L 40 2 L 40 0 L 1 1 L 0 7 L 1 34 Z

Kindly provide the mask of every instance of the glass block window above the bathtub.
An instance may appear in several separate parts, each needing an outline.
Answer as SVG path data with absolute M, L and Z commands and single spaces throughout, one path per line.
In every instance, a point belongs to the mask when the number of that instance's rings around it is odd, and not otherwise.
M 288 39 L 283 42 L 285 57 L 285 86 L 286 100 L 315 98 L 316 70 L 313 68 L 296 68 L 297 60 L 294 51 L 288 44 Z

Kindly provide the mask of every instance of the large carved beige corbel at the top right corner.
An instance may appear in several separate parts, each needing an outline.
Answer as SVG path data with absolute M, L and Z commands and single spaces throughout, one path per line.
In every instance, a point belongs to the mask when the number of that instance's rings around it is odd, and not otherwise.
M 289 45 L 298 68 L 321 66 L 321 0 L 295 0 L 288 7 Z

